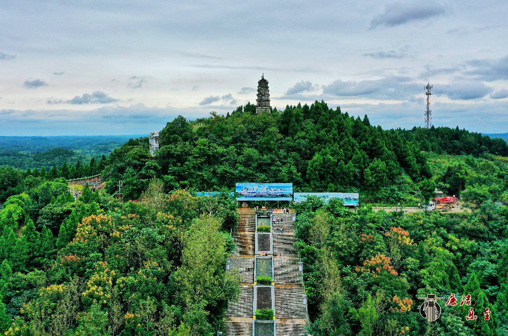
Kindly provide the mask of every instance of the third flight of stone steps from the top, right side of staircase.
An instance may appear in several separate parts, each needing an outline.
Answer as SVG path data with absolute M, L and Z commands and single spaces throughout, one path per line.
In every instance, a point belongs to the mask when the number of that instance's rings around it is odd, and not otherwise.
M 303 288 L 275 288 L 275 316 L 277 318 L 306 319 Z M 278 334 L 278 330 L 277 330 Z

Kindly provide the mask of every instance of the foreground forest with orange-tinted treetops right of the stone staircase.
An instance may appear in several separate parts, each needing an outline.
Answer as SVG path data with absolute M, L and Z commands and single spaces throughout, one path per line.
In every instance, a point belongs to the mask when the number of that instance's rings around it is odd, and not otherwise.
M 508 207 L 352 212 L 314 198 L 297 213 L 313 335 L 508 335 Z M 436 322 L 420 316 L 418 297 L 451 293 L 470 294 L 478 319 L 444 300 Z

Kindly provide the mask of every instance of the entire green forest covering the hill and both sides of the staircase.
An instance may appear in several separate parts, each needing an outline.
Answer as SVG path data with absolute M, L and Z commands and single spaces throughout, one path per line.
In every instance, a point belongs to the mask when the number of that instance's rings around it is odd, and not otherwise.
M 508 335 L 506 142 L 458 128 L 383 130 L 324 102 L 254 111 L 179 116 L 154 158 L 142 137 L 102 159 L 0 168 L 0 330 L 213 336 L 238 293 L 225 272 L 237 223 L 228 193 L 251 181 L 361 195 L 357 212 L 313 198 L 296 208 L 314 336 Z M 66 179 L 96 173 L 105 190 L 68 193 Z M 111 196 L 119 180 L 125 203 Z M 416 205 L 436 187 L 471 212 L 369 204 Z M 441 304 L 425 322 L 418 297 L 431 293 L 471 294 L 478 320 Z

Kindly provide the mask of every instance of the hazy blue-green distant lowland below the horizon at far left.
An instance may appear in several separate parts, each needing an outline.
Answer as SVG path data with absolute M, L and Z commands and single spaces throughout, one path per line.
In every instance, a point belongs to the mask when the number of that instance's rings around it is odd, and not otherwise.
M 89 163 L 91 158 L 99 160 L 108 156 L 131 138 L 140 135 L 115 136 L 0 136 L 0 166 L 34 169 L 64 162 L 75 164 L 78 160 Z

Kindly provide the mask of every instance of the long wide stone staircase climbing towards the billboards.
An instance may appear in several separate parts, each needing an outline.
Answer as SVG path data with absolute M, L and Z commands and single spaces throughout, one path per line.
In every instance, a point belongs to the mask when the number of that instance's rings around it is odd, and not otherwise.
M 302 272 L 299 270 L 300 259 L 294 248 L 295 225 L 294 214 L 274 213 L 272 218 L 273 258 L 264 258 L 264 263 L 273 265 L 272 278 L 272 307 L 274 307 L 274 321 L 255 320 L 256 308 L 259 303 L 254 297 L 256 288 L 256 213 L 252 209 L 238 209 L 239 225 L 233 230 L 236 249 L 229 258 L 230 272 L 238 272 L 240 276 L 240 295 L 238 301 L 229 302 L 227 317 L 224 321 L 225 336 L 306 336 L 307 307 L 304 304 L 304 288 Z M 281 221 L 279 221 L 281 219 Z M 280 231 L 284 228 L 283 233 Z M 279 228 L 277 232 L 277 228 Z M 259 263 L 263 260 L 256 258 Z M 268 261 L 266 259 L 273 261 Z M 265 272 L 266 272 L 266 268 Z M 259 270 L 259 268 L 258 268 Z M 260 274 L 258 274 L 259 276 Z M 262 286 L 268 289 L 267 286 Z M 266 292 L 266 291 L 265 291 Z M 269 293 L 269 291 L 267 292 Z M 268 294 L 267 294 L 268 295 Z M 265 296 L 270 297 L 270 295 Z M 265 303 L 266 304 L 266 303 Z M 259 324 L 262 323 L 262 324 Z

